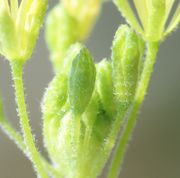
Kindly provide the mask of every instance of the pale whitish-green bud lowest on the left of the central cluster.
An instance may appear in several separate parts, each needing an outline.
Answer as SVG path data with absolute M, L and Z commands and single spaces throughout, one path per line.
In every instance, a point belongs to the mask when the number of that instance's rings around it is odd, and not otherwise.
M 73 116 L 71 112 L 49 122 L 46 134 L 46 147 L 54 167 L 64 175 L 73 177 L 77 169 L 77 154 L 74 151 L 74 141 L 72 137 Z

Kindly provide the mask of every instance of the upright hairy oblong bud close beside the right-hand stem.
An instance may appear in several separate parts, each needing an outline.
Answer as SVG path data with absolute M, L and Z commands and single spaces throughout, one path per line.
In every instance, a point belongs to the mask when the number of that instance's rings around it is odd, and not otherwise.
M 142 44 L 128 26 L 121 26 L 115 35 L 112 47 L 113 78 L 118 101 L 129 104 L 134 99 L 139 77 Z

